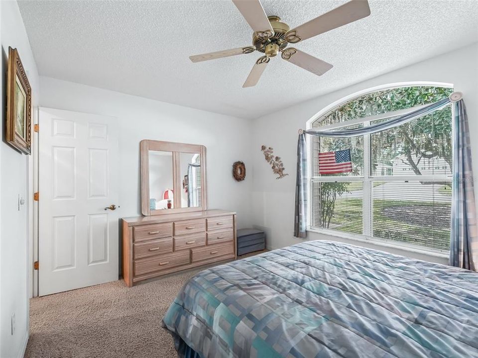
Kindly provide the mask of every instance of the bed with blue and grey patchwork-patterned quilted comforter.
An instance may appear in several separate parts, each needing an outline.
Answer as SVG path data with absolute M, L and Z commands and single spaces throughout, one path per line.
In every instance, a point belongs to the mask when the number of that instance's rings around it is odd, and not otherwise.
M 192 277 L 165 314 L 179 357 L 478 357 L 478 273 L 308 241 Z

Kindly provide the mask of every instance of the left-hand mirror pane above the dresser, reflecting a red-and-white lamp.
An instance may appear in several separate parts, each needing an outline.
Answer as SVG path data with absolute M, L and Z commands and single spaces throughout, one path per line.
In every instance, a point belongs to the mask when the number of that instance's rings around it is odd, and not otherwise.
M 173 153 L 149 151 L 149 208 L 174 208 Z

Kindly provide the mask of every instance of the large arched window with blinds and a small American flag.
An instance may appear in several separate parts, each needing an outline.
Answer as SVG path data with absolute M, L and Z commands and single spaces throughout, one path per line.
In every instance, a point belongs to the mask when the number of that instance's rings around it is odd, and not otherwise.
M 320 129 L 367 126 L 452 92 L 437 86 L 374 90 L 308 124 Z M 311 230 L 449 250 L 451 106 L 375 134 L 310 138 Z M 330 166 L 331 155 L 340 155 L 343 164 Z

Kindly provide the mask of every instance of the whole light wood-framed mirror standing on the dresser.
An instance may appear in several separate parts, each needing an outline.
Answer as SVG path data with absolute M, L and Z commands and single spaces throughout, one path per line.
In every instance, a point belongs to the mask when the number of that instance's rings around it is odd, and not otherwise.
M 206 210 L 206 147 L 142 140 L 141 212 L 161 215 Z

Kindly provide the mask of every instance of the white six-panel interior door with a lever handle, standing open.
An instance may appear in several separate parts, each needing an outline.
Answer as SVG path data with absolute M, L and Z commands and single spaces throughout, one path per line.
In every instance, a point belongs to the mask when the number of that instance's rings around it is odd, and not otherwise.
M 116 118 L 39 112 L 39 295 L 117 280 Z

